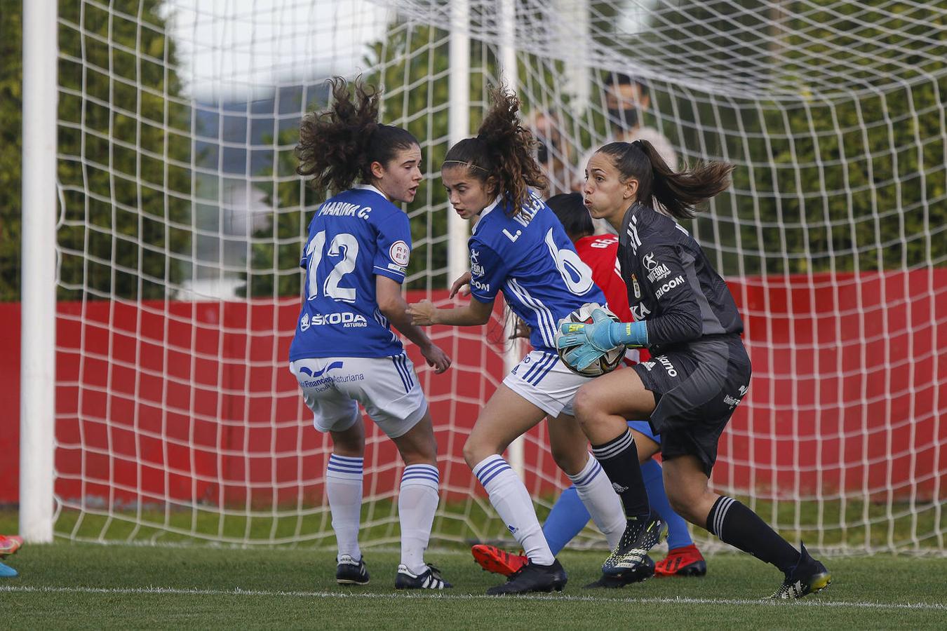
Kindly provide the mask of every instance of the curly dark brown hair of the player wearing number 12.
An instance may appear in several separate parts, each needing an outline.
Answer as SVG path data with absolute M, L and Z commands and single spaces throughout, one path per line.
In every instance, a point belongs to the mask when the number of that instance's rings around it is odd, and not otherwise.
M 419 145 L 410 131 L 378 122 L 378 91 L 356 79 L 333 77 L 331 106 L 306 114 L 299 125 L 296 173 L 312 176 L 316 189 L 340 192 L 357 179 L 373 180 L 371 165 L 386 165 L 400 149 Z M 354 97 L 353 93 L 354 92 Z

